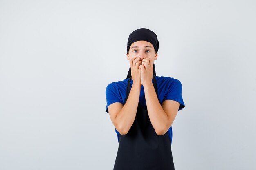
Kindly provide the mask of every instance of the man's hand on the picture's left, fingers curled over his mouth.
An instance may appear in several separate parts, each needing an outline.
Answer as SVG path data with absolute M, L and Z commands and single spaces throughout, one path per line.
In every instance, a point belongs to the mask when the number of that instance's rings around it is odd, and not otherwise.
M 140 58 L 132 58 L 130 60 L 130 67 L 131 67 L 131 75 L 133 84 L 139 84 L 141 86 L 141 69 L 139 66 L 141 65 L 142 61 Z

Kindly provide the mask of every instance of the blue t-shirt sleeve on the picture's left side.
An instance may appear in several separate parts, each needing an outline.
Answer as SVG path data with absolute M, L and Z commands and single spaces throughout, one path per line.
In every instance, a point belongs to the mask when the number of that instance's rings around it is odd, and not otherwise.
M 108 84 L 106 87 L 106 100 L 107 100 L 107 106 L 106 106 L 106 112 L 108 113 L 108 106 L 115 102 L 123 103 L 121 100 L 121 96 L 117 93 L 117 90 L 113 83 Z

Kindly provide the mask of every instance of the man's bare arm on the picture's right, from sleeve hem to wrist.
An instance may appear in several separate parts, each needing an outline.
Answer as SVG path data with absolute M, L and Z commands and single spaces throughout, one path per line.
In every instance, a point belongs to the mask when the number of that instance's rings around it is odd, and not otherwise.
M 152 83 L 144 85 L 148 116 L 157 135 L 164 135 L 171 127 L 180 103 L 174 100 L 165 100 L 160 105 Z

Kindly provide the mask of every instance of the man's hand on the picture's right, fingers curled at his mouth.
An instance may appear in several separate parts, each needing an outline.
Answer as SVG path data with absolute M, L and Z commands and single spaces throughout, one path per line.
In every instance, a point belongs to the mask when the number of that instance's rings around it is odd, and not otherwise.
M 153 79 L 153 61 L 149 58 L 142 59 L 142 65 L 139 66 L 141 70 L 141 84 L 152 84 Z

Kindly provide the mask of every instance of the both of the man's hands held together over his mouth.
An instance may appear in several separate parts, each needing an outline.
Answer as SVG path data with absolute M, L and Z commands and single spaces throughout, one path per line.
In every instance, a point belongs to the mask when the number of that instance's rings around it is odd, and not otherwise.
M 143 86 L 152 84 L 153 61 L 149 58 L 132 58 L 130 60 L 131 75 L 133 84 L 143 84 Z

